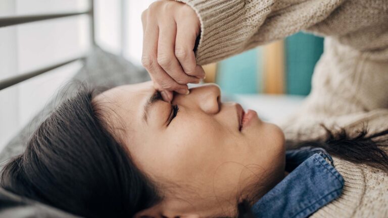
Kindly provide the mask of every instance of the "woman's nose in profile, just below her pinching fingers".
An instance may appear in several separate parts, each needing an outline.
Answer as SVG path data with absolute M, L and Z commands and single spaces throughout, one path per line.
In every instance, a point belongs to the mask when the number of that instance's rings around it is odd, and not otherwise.
M 214 83 L 191 88 L 190 94 L 184 98 L 187 104 L 195 104 L 191 106 L 198 106 L 207 114 L 217 114 L 220 111 L 221 90 Z

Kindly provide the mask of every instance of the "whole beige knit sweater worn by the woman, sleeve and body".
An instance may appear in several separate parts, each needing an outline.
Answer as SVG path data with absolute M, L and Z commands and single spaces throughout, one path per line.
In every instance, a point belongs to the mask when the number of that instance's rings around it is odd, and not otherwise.
M 282 125 L 288 139 L 326 126 L 388 128 L 388 0 L 176 0 L 201 21 L 198 64 L 217 62 L 300 30 L 325 36 L 312 91 Z M 304 133 L 299 136 L 298 133 Z M 341 197 L 312 217 L 388 217 L 388 174 L 334 157 Z

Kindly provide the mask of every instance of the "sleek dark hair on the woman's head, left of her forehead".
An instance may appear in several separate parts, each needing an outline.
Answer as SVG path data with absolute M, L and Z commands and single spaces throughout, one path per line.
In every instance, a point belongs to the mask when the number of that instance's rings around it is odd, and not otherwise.
M 156 204 L 156 187 L 98 114 L 91 91 L 65 100 L 4 167 L 1 186 L 86 217 L 132 217 Z

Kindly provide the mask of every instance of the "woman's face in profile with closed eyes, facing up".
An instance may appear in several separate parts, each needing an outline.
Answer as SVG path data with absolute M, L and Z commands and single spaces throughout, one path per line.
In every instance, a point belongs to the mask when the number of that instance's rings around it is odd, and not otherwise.
M 244 116 L 237 103 L 220 102 L 217 85 L 191 88 L 169 103 L 145 82 L 110 89 L 94 101 L 135 165 L 160 183 L 165 198 L 148 213 L 233 212 L 249 185 L 283 175 L 282 131 L 253 111 Z

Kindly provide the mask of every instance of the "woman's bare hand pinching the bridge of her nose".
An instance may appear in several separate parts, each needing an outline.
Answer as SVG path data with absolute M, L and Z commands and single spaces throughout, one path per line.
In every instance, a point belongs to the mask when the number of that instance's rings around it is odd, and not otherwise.
M 190 6 L 162 0 L 141 14 L 143 25 L 142 65 L 164 100 L 173 92 L 188 94 L 187 83 L 199 83 L 205 71 L 193 51 L 201 23 Z

